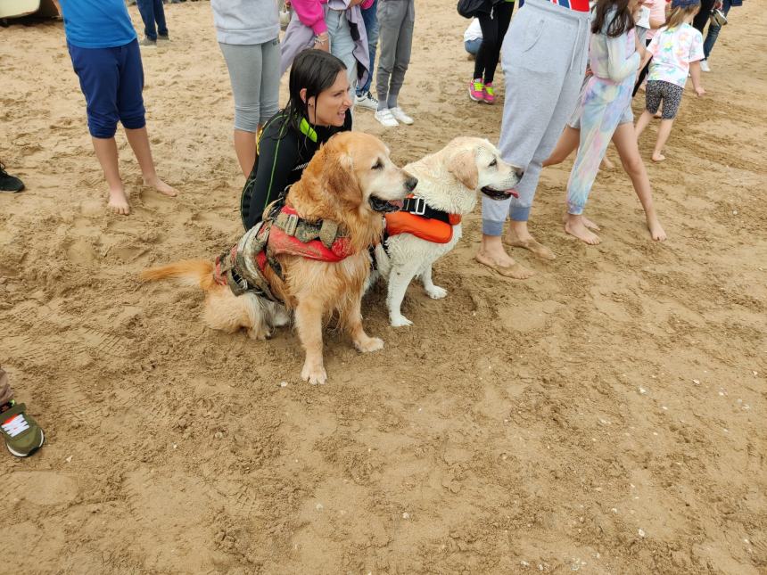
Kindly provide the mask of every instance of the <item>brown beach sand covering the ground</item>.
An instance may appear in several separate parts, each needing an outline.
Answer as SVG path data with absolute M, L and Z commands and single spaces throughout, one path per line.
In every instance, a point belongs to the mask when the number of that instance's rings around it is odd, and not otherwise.
M 395 330 L 379 288 L 364 309 L 386 348 L 328 333 L 322 387 L 299 381 L 291 330 L 212 332 L 199 292 L 136 280 L 242 231 L 210 4 L 166 10 L 145 98 L 181 195 L 142 189 L 120 133 L 128 218 L 105 213 L 62 24 L 0 29 L 0 157 L 29 188 L 0 197 L 0 361 L 47 434 L 29 460 L 0 456 L 6 571 L 767 572 L 761 2 L 730 13 L 708 94 L 685 95 L 669 160 L 648 166 L 668 242 L 649 240 L 620 168 L 590 201 L 604 242 L 573 241 L 571 164 L 548 169 L 532 226 L 556 261 L 514 251 L 537 275 L 492 275 L 472 259 L 475 214 L 436 266 L 449 297 L 411 286 L 416 324 Z M 419 0 L 416 124 L 357 115 L 395 160 L 497 139 L 502 106 L 466 97 L 465 26 Z

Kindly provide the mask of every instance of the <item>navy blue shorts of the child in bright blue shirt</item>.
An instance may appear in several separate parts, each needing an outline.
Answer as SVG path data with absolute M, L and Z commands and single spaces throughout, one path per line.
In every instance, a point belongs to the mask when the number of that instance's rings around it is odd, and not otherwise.
M 144 68 L 138 40 L 115 48 L 80 48 L 69 43 L 67 47 L 86 96 L 91 136 L 111 138 L 118 121 L 128 129 L 144 127 Z

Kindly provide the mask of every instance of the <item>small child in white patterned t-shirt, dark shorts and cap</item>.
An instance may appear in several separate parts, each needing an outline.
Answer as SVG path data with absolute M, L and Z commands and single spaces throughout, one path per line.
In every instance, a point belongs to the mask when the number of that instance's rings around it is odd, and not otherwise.
M 700 85 L 700 61 L 704 58 L 703 36 L 690 26 L 698 10 L 700 0 L 673 0 L 672 13 L 667 25 L 658 30 L 653 41 L 647 46 L 645 61 L 650 58 L 653 61 L 647 75 L 647 109 L 637 121 L 637 138 L 663 102 L 663 119 L 658 128 L 653 161 L 665 160 L 661 152 L 671 136 L 673 120 L 679 111 L 688 72 L 697 96 L 705 94 L 703 86 Z

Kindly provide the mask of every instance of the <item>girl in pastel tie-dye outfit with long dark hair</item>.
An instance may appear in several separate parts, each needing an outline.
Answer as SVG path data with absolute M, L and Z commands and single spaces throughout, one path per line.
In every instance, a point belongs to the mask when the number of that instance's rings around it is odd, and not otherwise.
M 590 68 L 579 111 L 581 142 L 567 183 L 565 232 L 592 245 L 600 242 L 585 225 L 583 209 L 599 162 L 631 102 L 641 51 L 633 12 L 640 0 L 598 0 L 591 21 Z

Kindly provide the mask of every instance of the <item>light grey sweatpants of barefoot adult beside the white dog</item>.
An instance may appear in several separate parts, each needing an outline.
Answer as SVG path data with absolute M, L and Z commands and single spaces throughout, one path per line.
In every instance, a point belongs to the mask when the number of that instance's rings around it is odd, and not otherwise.
M 581 91 L 589 54 L 589 12 L 525 0 L 501 47 L 506 81 L 501 157 L 524 167 L 519 198 L 482 197 L 482 234 L 500 235 L 509 217 L 527 221 L 543 160 L 553 152 Z

